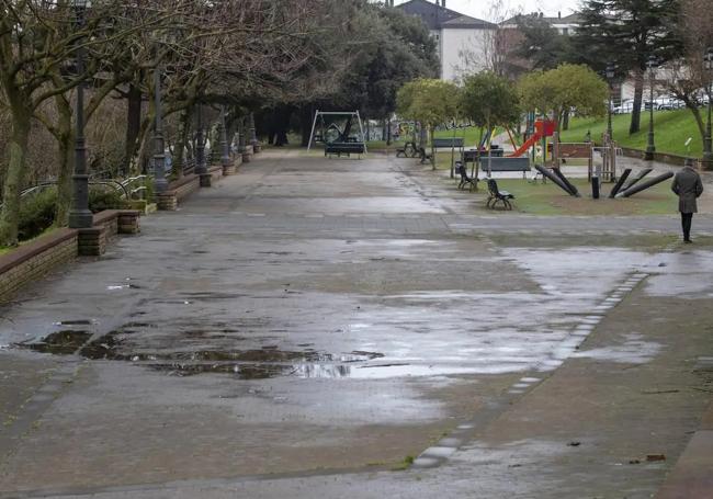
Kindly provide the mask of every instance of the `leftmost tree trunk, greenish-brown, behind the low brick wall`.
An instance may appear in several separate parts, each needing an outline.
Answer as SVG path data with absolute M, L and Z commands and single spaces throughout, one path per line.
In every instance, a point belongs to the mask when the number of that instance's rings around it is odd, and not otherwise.
M 2 192 L 2 212 L 0 212 L 0 246 L 18 245 L 18 225 L 20 222 L 20 192 L 24 186 L 30 138 L 31 110 L 21 105 L 12 106 L 12 134 L 8 141 L 8 171 Z

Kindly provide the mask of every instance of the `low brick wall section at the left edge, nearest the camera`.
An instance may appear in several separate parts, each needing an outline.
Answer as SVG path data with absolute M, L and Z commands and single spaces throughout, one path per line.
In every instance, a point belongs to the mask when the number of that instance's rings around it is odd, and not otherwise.
M 0 303 L 22 286 L 77 257 L 78 231 L 59 229 L 0 257 Z

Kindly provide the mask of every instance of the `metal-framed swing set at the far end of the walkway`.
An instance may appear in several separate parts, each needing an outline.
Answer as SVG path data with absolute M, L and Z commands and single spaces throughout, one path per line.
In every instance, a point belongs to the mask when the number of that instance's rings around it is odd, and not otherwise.
M 325 116 L 332 118 L 329 124 L 327 124 Z M 340 128 L 335 118 L 343 120 L 343 127 Z M 359 124 L 358 135 L 352 135 L 354 118 Z M 315 135 L 318 120 L 320 132 Z M 348 157 L 359 155 L 361 158 L 361 155 L 366 152 L 366 140 L 364 139 L 364 127 L 362 126 L 359 111 L 316 111 L 315 120 L 312 123 L 307 150 L 310 150 L 312 145 L 316 143 L 322 143 L 325 145 L 325 157 L 331 157 L 332 155 L 337 155 L 337 157 L 341 157 L 342 155 Z

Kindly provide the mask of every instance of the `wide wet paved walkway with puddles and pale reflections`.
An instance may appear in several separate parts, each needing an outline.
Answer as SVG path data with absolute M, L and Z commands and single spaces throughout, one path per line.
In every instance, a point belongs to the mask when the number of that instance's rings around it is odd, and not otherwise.
M 429 170 L 265 152 L 4 306 L 0 497 L 654 494 L 710 400 L 713 218 Z

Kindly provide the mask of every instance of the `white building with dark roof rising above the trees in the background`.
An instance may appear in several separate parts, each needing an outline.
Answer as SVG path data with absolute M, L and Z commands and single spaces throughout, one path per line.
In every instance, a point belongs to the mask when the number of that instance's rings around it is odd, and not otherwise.
M 409 0 L 398 8 L 421 18 L 438 42 L 441 79 L 457 80 L 487 67 L 487 47 L 496 24 L 446 9 L 445 0 Z

